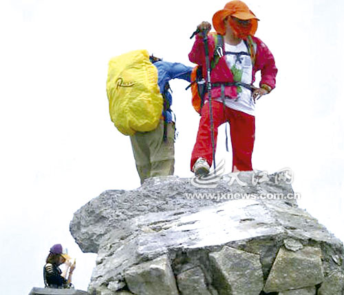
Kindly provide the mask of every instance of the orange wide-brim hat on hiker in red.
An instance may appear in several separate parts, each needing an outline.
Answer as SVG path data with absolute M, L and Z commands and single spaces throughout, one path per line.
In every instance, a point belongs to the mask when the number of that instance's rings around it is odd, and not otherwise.
M 235 16 L 237 19 L 242 19 L 244 21 L 251 19 L 252 29 L 250 35 L 253 36 L 257 31 L 259 19 L 257 19 L 257 16 L 250 11 L 248 5 L 246 5 L 244 2 L 239 0 L 230 1 L 224 5 L 224 9 L 215 12 L 213 15 L 213 27 L 220 35 L 226 34 L 224 19 L 226 19 L 227 16 Z

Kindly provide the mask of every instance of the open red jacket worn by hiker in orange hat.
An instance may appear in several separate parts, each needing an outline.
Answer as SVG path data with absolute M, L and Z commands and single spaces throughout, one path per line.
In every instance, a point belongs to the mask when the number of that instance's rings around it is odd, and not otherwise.
M 272 56 L 268 47 L 259 38 L 252 36 L 252 39 L 254 43 L 257 45 L 255 64 L 253 65 L 252 69 L 252 83 L 255 82 L 255 73 L 257 73 L 257 71 L 261 71 L 261 81 L 259 83 L 259 86 L 266 84 L 270 86 L 271 89 L 273 89 L 276 85 L 277 75 L 275 58 Z M 210 60 L 212 60 L 215 50 L 215 40 L 213 34 L 208 34 L 208 47 L 209 58 Z M 189 53 L 189 60 L 195 64 L 201 65 L 204 71 L 203 75 L 204 77 L 206 77 L 206 58 L 204 51 L 204 42 L 203 38 L 200 37 L 198 34 L 196 35 L 196 40 L 193 44 L 193 48 Z M 219 62 L 217 62 L 214 69 L 212 69 L 211 82 L 234 82 L 233 74 L 226 63 L 226 56 L 222 56 L 222 58 L 219 58 Z M 236 86 L 226 86 L 224 92 L 225 95 L 228 97 L 237 97 Z M 220 87 L 212 88 L 211 96 L 220 97 Z

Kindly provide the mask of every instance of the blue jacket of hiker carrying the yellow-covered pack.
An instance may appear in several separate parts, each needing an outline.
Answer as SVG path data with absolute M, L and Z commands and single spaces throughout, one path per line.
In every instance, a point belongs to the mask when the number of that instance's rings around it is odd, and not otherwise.
M 160 88 L 160 93 L 164 95 L 169 106 L 171 106 L 171 91 L 169 89 L 166 89 L 165 85 L 170 80 L 176 78 L 191 82 L 191 71 L 193 70 L 193 67 L 186 67 L 184 64 L 180 64 L 179 62 L 165 62 L 164 60 L 154 62 L 153 64 L 158 69 L 158 85 Z M 171 108 L 168 108 L 166 112 L 164 112 L 163 110 L 162 115 L 164 116 L 166 122 L 169 123 L 173 121 Z

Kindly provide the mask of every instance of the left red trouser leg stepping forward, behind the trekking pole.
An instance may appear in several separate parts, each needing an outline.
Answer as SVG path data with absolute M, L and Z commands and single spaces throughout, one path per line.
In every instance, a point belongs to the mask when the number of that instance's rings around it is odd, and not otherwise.
M 211 102 L 213 109 L 213 124 L 214 124 L 214 142 L 215 150 L 217 143 L 217 128 L 226 121 L 224 117 L 224 105 L 221 102 L 213 100 Z M 204 158 L 209 166 L 213 163 L 213 144 L 211 142 L 211 118 L 209 103 L 204 104 L 202 108 L 202 117 L 200 119 L 200 126 L 198 127 L 197 138 L 193 152 L 191 154 L 191 171 L 193 165 L 198 158 Z

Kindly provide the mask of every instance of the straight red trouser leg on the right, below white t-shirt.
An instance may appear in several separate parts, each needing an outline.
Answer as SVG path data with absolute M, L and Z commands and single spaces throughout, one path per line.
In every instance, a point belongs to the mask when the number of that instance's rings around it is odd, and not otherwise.
M 228 108 L 233 150 L 232 172 L 252 170 L 255 144 L 255 116 Z

